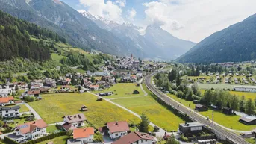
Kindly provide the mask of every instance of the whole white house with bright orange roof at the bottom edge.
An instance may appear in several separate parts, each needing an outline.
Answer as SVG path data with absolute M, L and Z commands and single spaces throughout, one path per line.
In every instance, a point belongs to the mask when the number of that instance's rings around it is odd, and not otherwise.
M 76 128 L 73 130 L 73 139 L 67 140 L 67 144 L 93 143 L 94 128 Z

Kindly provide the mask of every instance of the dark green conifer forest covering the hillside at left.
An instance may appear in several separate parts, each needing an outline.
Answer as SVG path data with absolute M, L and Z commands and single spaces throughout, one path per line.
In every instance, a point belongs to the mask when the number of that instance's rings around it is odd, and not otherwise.
M 66 42 L 63 37 L 45 28 L 13 18 L 0 10 L 0 60 L 11 60 L 13 57 L 48 60 L 51 56 L 49 45 L 31 40 L 31 35 Z

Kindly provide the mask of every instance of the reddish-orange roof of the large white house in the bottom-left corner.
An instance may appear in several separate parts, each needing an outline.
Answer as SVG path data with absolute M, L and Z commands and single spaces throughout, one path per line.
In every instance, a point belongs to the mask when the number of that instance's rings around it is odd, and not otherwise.
M 38 119 L 34 122 L 27 122 L 25 124 L 16 126 L 16 128 L 18 128 L 22 134 L 31 133 L 32 131 L 34 131 L 34 128 L 46 128 L 46 127 L 47 127 L 47 124 L 46 122 L 43 121 L 43 119 Z

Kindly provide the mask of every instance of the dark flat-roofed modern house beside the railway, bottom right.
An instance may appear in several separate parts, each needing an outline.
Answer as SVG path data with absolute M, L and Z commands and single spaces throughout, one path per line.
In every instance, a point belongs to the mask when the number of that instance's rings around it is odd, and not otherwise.
M 205 125 L 199 122 L 185 122 L 178 126 L 178 133 L 184 134 L 185 137 L 190 137 L 193 134 L 199 134 L 202 132 Z

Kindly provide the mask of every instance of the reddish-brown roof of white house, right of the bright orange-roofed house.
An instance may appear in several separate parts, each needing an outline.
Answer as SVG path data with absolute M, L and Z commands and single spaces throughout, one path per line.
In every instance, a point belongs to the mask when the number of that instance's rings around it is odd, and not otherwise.
M 130 128 L 126 121 L 108 122 L 107 128 L 111 133 L 120 132 L 120 131 L 130 131 Z

